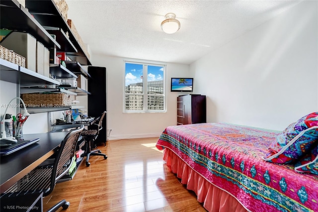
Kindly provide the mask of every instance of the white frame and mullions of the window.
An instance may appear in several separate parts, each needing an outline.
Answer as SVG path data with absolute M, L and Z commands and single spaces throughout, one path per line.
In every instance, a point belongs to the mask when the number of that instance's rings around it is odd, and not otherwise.
M 143 96 L 143 109 L 142 110 L 126 110 L 126 63 L 131 63 L 131 64 L 138 64 L 138 65 L 143 65 L 143 94 L 133 94 L 137 96 Z M 145 85 L 144 82 L 148 82 L 148 66 L 158 66 L 158 67 L 163 67 L 163 94 L 148 94 L 148 88 L 147 88 L 147 83 Z M 145 68 L 146 67 L 146 68 Z M 123 113 L 162 113 L 166 112 L 166 106 L 167 106 L 167 89 L 166 89 L 166 63 L 162 62 L 157 62 L 157 61 L 145 61 L 145 60 L 135 60 L 135 59 L 124 59 L 123 61 Z M 151 81 L 150 81 L 151 82 Z M 162 110 L 154 110 L 154 109 L 148 109 L 148 97 L 149 96 L 157 96 L 163 97 L 163 109 Z M 146 100 L 146 102 L 145 102 Z M 135 104 L 135 103 L 134 103 Z

